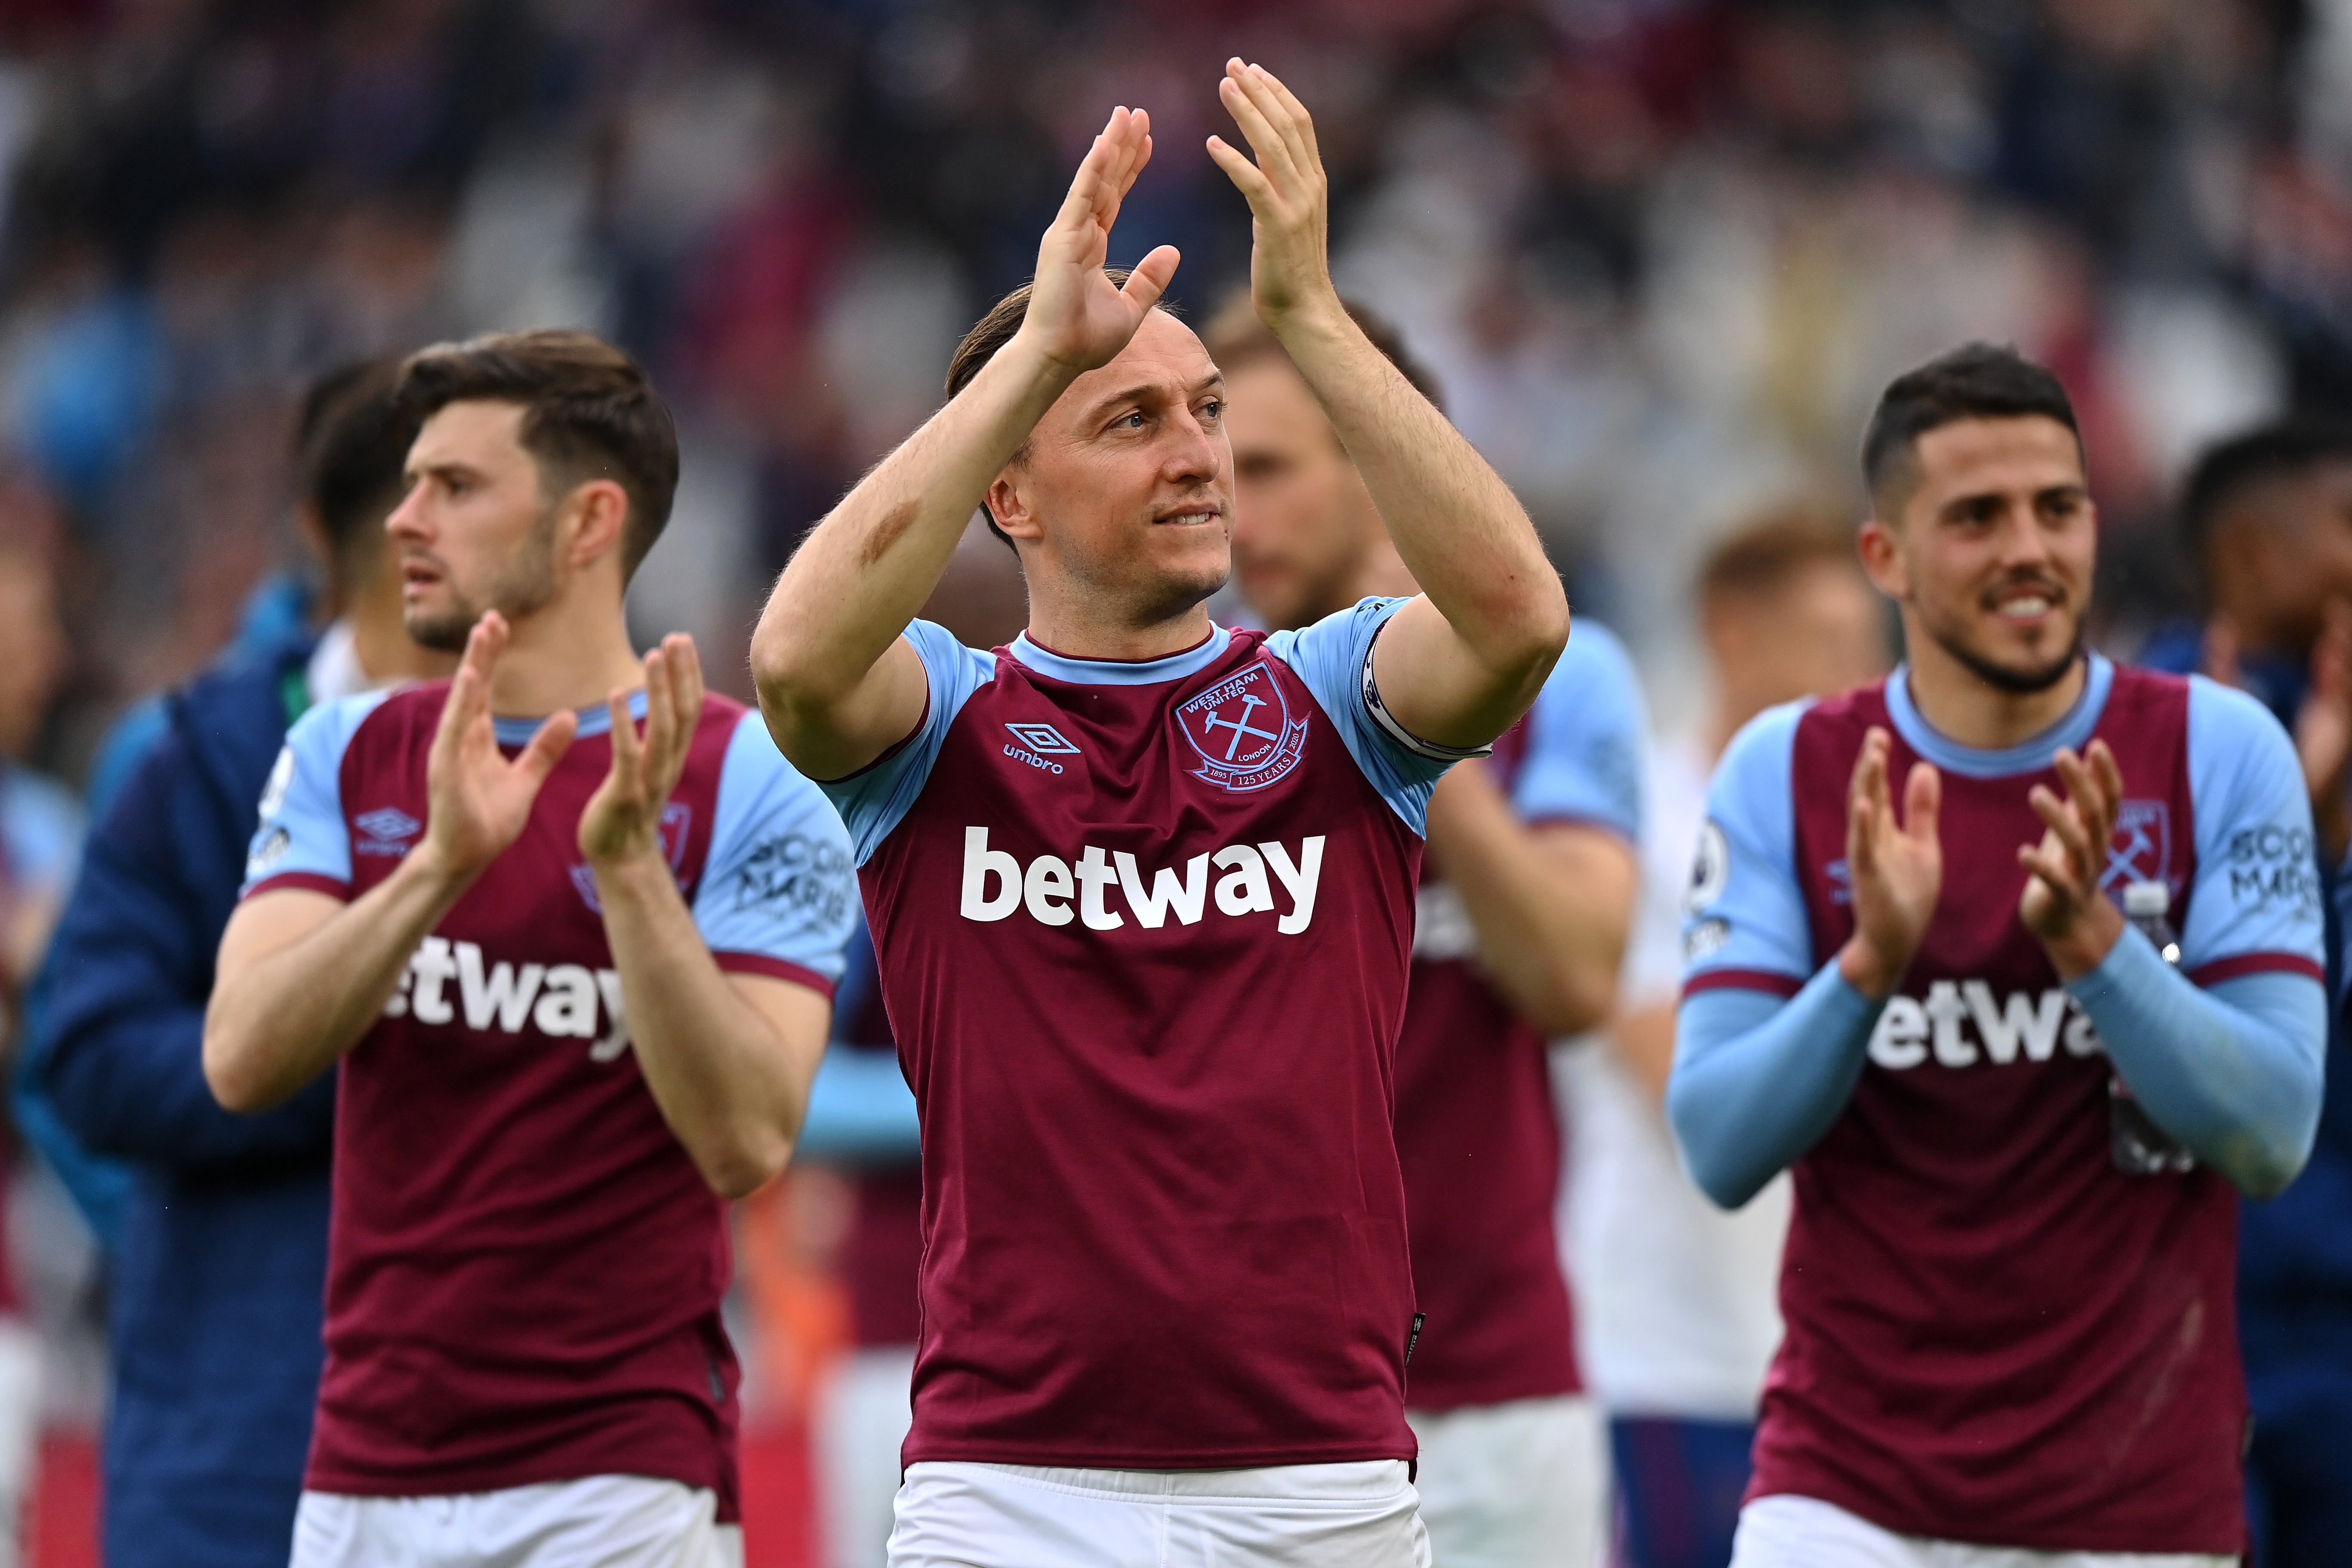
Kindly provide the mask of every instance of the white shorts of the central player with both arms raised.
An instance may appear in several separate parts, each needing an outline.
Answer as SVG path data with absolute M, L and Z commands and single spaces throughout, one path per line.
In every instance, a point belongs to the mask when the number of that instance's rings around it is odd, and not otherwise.
M 910 1465 L 889 1568 L 1430 1568 L 1404 1460 Z

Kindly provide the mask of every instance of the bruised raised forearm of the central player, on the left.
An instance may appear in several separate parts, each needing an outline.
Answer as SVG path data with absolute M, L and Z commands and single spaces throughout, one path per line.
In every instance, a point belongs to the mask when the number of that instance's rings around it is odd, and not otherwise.
M 988 484 L 1073 378 L 1014 336 L 816 524 L 753 635 L 753 679 L 771 724 L 823 724 L 856 691 L 931 597 Z

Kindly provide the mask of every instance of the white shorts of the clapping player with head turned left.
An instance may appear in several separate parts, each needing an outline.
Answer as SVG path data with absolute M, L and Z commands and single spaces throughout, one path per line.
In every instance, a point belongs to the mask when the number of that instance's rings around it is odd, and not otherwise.
M 581 1476 L 452 1497 L 303 1493 L 292 1568 L 743 1568 L 708 1488 Z

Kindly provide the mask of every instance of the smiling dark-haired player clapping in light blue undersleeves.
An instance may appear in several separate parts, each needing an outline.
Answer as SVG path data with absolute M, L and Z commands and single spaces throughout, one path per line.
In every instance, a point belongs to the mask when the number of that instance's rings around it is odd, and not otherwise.
M 2084 651 L 2098 529 L 2046 369 L 1955 350 L 1863 451 L 1910 658 L 1740 731 L 1684 929 L 1691 1173 L 1724 1206 L 1797 1173 L 1733 1563 L 2218 1568 L 2237 1192 L 2319 1117 L 2296 755 L 2244 693 Z

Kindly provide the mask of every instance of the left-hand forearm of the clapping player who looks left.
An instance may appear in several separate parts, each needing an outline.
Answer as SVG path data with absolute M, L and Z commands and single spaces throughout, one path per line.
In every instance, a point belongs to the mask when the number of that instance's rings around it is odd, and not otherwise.
M 416 945 L 470 882 L 442 870 L 421 844 L 390 877 L 282 947 L 249 954 L 230 919 L 205 1009 L 205 1081 L 214 1098 L 233 1112 L 268 1110 L 360 1044 Z

